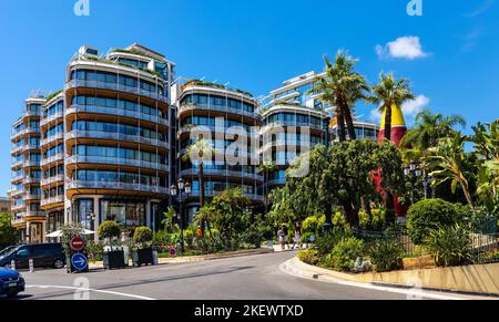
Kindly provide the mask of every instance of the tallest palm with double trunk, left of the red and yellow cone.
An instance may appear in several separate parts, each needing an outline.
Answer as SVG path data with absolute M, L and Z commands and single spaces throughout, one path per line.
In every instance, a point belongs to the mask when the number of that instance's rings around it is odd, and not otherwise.
M 349 56 L 346 51 L 338 51 L 334 64 L 327 56 L 324 56 L 324 61 L 325 75 L 318 80 L 309 93 L 319 93 L 319 100 L 325 105 L 336 106 L 339 141 L 346 141 L 345 123 L 349 138 L 356 139 L 352 108 L 358 100 L 365 97 L 364 92 L 369 87 L 365 77 L 354 71 L 357 60 Z

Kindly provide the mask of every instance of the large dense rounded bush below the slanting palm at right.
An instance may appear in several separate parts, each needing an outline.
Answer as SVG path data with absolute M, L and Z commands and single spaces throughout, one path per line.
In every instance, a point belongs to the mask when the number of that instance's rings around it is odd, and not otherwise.
M 421 200 L 409 208 L 407 229 L 417 245 L 424 242 L 430 230 L 462 224 L 458 207 L 441 199 Z

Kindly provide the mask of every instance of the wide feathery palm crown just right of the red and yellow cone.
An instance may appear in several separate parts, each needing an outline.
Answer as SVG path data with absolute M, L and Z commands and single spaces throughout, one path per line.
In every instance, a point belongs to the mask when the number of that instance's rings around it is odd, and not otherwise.
M 401 146 L 417 148 L 426 154 L 426 150 L 437 146 L 441 138 L 454 135 L 456 125 L 465 127 L 465 118 L 459 115 L 444 116 L 425 110 L 416 116 L 416 125 L 404 136 Z

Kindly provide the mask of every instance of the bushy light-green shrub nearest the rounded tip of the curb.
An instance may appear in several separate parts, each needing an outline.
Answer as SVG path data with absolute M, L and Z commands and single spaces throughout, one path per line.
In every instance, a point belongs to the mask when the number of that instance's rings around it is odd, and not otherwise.
M 323 258 L 323 264 L 337 271 L 352 271 L 357 258 L 363 257 L 364 241 L 348 237 L 340 240 L 333 251 Z

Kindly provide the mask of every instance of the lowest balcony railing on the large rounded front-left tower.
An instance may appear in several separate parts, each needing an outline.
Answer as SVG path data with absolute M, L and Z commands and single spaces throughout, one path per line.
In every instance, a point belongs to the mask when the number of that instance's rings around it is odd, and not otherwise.
M 152 193 L 169 195 L 170 189 L 160 186 L 141 185 L 141 184 L 124 184 L 119 181 L 103 181 L 103 180 L 70 180 L 67 183 L 68 189 L 112 189 L 112 190 L 128 190 L 140 193 Z

